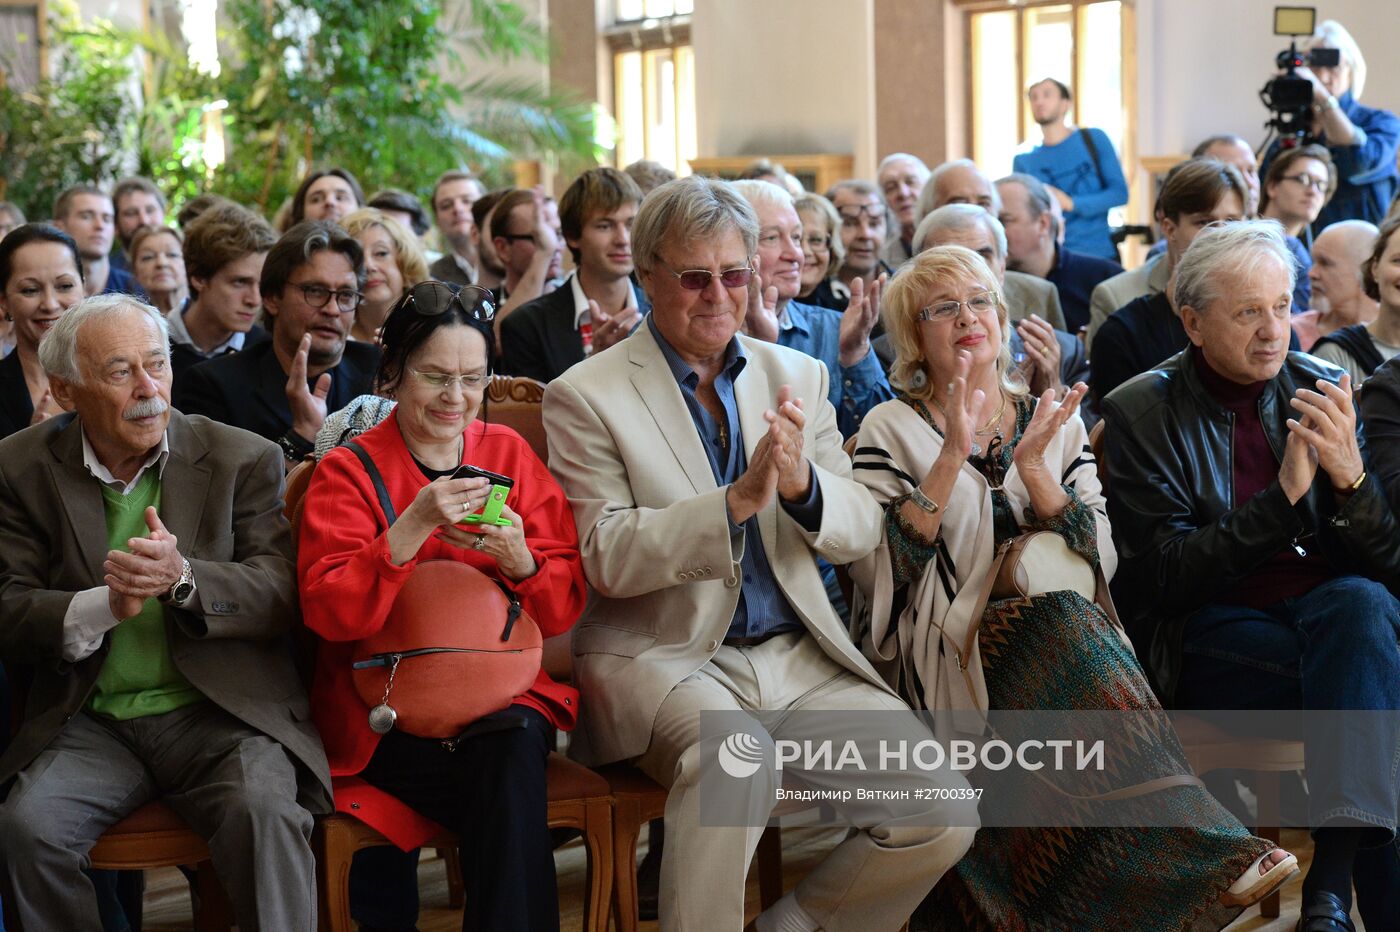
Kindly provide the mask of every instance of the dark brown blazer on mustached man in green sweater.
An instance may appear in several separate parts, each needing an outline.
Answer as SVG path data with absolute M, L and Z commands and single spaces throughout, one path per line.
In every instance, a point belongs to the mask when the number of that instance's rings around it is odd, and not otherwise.
M 281 451 L 179 411 L 167 435 L 161 521 L 196 586 L 189 609 L 165 609 L 171 658 L 210 701 L 286 747 L 301 764 L 301 805 L 329 812 L 330 768 L 291 655 L 300 614 Z M 0 784 L 92 694 L 109 642 L 63 661 L 63 617 L 76 592 L 102 585 L 106 550 L 102 488 L 83 463 L 78 418 L 63 414 L 0 441 L 0 656 L 34 672 Z

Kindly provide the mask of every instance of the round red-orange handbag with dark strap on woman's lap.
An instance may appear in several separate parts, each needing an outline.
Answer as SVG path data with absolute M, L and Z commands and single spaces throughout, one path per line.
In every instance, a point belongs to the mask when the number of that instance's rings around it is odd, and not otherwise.
M 379 470 L 346 444 L 374 481 L 389 525 L 393 505 Z M 456 737 L 507 708 L 539 676 L 543 637 L 514 592 L 456 560 L 424 560 L 399 591 L 384 627 L 356 644 L 353 677 L 370 728 Z

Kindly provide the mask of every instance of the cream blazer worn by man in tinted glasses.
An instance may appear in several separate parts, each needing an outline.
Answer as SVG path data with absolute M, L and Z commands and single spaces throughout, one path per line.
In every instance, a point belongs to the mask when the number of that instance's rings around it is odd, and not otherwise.
M 729 536 L 725 487 L 651 329 L 568 369 L 545 390 L 549 467 L 574 508 L 589 599 L 574 628 L 580 728 L 571 753 L 587 764 L 647 750 L 662 700 L 724 641 L 743 547 L 762 546 L 808 633 L 836 663 L 890 691 L 833 612 L 815 557 L 850 563 L 881 540 L 875 500 L 851 480 L 819 361 L 739 337 L 749 355 L 735 382 L 745 451 L 767 431 L 763 411 L 791 385 L 808 411 L 806 456 L 822 490 L 822 525 L 808 533 L 774 500 L 760 540 Z

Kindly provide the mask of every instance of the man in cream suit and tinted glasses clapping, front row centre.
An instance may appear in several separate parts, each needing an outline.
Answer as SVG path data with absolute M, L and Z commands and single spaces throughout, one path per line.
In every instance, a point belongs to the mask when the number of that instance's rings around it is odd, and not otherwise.
M 883 518 L 850 480 L 826 368 L 736 336 L 757 299 L 756 243 L 753 210 L 727 183 L 685 178 L 652 192 L 633 228 L 647 323 L 545 393 L 550 467 L 573 502 L 594 589 L 574 633 L 584 694 L 574 753 L 589 764 L 631 760 L 669 786 L 668 931 L 741 928 L 762 834 L 703 824 L 697 786 L 715 746 L 701 743 L 701 711 L 885 711 L 879 737 L 923 729 L 826 599 L 815 557 L 864 556 Z M 729 785 L 743 792 L 742 781 Z M 750 786 L 755 800 L 767 793 L 767 812 L 771 782 Z M 930 810 L 914 803 L 899 824 L 848 838 L 757 929 L 899 928 L 972 842 L 966 810 L 965 827 L 932 824 Z

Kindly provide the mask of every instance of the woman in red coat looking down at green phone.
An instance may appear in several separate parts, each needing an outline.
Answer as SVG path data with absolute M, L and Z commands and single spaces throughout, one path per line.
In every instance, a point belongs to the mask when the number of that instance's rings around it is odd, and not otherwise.
M 384 325 L 379 364 L 381 392 L 398 407 L 356 438 L 384 476 L 398 519 L 385 530 L 364 466 L 336 448 L 307 490 L 297 564 L 302 614 L 321 637 L 311 702 L 332 774 L 357 775 L 458 833 L 463 929 L 533 932 L 559 928 L 545 763 L 552 728 L 574 725 L 578 694 L 540 672 L 504 716 L 512 726 L 448 750 L 400 729 L 372 732 L 351 680 L 356 642 L 384 626 L 419 560 L 459 560 L 494 577 L 546 638 L 582 612 L 578 535 L 564 493 L 518 434 L 476 420 L 493 343 L 491 305 L 477 288 L 458 295 L 423 283 L 399 301 Z M 510 528 L 458 525 L 489 493 L 484 479 L 449 479 L 463 463 L 515 480 L 501 512 Z M 405 835 L 392 806 L 365 803 L 354 814 L 391 838 Z

